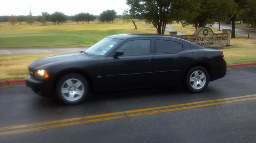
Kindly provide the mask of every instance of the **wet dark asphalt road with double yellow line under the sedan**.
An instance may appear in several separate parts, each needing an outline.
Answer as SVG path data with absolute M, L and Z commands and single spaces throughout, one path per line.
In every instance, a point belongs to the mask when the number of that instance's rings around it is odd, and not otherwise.
M 179 87 L 100 93 L 75 106 L 27 87 L 2 88 L 0 142 L 253 143 L 255 87 L 256 67 L 229 69 L 200 94 Z

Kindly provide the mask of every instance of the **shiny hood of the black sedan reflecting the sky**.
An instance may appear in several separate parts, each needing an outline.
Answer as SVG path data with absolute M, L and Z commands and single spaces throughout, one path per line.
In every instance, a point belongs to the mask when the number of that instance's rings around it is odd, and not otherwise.
M 91 59 L 91 58 L 86 54 L 83 54 L 82 52 L 78 52 L 78 53 L 53 55 L 47 58 L 39 59 L 34 63 L 41 66 L 46 64 L 54 64 L 54 63 L 69 62 L 69 61 L 72 62 L 72 61 L 79 61 L 79 60 L 86 60 L 86 59 Z

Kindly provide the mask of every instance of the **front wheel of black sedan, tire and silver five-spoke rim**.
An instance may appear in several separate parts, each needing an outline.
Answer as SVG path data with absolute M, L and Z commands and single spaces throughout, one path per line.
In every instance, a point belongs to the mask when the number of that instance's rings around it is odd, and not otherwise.
M 81 103 L 89 95 L 90 89 L 88 81 L 80 74 L 67 74 L 61 77 L 56 88 L 57 98 L 68 105 Z

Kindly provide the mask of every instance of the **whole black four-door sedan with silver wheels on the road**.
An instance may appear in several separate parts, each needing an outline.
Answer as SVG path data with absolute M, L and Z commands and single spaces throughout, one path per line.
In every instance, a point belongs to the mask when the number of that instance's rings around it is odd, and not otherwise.
M 226 74 L 223 52 L 164 36 L 107 37 L 86 51 L 50 56 L 29 65 L 27 86 L 66 104 L 89 92 L 183 84 L 193 93 Z

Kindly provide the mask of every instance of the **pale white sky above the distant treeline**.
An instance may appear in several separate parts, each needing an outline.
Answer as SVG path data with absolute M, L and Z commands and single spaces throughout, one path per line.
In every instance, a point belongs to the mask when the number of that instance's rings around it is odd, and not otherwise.
M 114 9 L 117 15 L 129 7 L 125 0 L 7 0 L 0 3 L 0 16 L 3 15 L 29 15 L 31 6 L 32 15 L 41 15 L 41 12 L 50 14 L 55 11 L 63 12 L 66 15 L 75 15 L 80 12 L 89 12 L 99 15 L 104 10 Z

